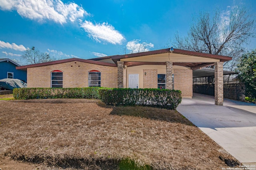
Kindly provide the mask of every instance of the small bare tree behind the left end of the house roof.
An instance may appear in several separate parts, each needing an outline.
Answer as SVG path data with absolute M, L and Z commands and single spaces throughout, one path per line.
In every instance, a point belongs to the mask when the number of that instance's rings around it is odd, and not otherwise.
M 26 64 L 37 64 L 54 61 L 54 58 L 52 58 L 49 53 L 41 53 L 35 47 L 27 49 L 21 57 L 26 61 Z

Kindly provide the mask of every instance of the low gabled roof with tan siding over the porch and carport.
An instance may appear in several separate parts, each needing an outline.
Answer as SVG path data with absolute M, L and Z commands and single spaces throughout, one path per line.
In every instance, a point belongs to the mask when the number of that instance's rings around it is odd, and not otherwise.
M 170 61 L 173 62 L 173 65 L 186 66 L 192 70 L 196 70 L 204 66 L 213 65 L 215 62 L 232 60 L 232 57 L 181 49 L 174 49 L 174 51 L 171 52 L 170 48 L 168 48 L 155 51 L 146 51 L 142 53 L 99 57 L 90 60 L 100 61 L 103 59 L 112 59 L 114 63 L 117 63 L 117 61 L 124 61 L 124 65 L 126 66 L 165 64 L 166 61 Z

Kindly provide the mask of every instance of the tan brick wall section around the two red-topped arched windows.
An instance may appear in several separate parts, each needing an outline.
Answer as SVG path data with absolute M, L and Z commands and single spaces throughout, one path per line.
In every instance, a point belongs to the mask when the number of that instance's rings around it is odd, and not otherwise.
M 63 71 L 63 88 L 88 87 L 88 72 L 101 72 L 101 86 L 117 88 L 117 67 L 72 61 L 27 69 L 28 87 L 51 87 L 51 71 Z

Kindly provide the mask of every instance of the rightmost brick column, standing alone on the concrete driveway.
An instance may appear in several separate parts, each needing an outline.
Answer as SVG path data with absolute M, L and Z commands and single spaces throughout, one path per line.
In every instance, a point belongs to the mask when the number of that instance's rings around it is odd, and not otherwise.
M 223 62 L 214 63 L 214 98 L 216 105 L 223 105 Z

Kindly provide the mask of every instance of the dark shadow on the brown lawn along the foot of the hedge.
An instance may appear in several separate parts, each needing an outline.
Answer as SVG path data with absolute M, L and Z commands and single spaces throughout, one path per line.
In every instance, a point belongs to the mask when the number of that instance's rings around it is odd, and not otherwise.
M 110 115 L 119 115 L 119 116 L 134 116 L 142 117 L 151 120 L 158 121 L 167 121 L 171 123 L 182 123 L 185 125 L 192 125 L 186 117 L 180 114 L 176 110 L 160 109 L 155 107 L 146 107 L 146 106 L 107 106 L 102 102 L 98 102 L 98 106 L 112 108 Z

